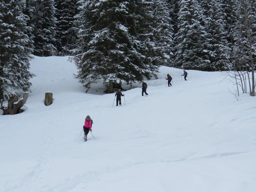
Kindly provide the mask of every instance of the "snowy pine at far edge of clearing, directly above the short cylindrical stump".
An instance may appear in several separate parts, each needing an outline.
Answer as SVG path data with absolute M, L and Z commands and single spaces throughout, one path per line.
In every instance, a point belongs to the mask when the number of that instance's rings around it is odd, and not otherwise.
M 34 26 L 34 55 L 56 54 L 56 18 L 54 0 L 38 0 Z

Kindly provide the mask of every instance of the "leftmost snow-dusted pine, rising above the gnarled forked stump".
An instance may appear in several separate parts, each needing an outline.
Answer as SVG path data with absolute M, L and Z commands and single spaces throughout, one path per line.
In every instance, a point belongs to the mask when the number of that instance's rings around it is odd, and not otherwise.
M 30 39 L 24 32 L 28 18 L 22 13 L 19 0 L 0 2 L 0 89 L 28 90 L 31 86 L 29 72 L 32 59 Z

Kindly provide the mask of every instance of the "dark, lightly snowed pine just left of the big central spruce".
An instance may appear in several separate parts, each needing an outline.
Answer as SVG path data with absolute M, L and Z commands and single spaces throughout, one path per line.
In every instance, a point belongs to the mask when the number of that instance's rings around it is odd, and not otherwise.
M 56 0 L 56 48 L 58 55 L 72 55 L 77 32 L 74 26 L 74 16 L 77 14 L 77 0 Z

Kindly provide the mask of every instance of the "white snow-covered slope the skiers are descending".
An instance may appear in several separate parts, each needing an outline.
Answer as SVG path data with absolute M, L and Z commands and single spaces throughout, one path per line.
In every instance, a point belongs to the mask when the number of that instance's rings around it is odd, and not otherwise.
M 182 70 L 161 67 L 148 97 L 134 88 L 111 107 L 114 94 L 100 84 L 85 94 L 67 59 L 35 57 L 28 109 L 0 116 L 1 192 L 255 191 L 255 98 L 237 101 L 221 72 L 188 70 L 185 82 Z M 87 115 L 95 140 L 84 142 Z

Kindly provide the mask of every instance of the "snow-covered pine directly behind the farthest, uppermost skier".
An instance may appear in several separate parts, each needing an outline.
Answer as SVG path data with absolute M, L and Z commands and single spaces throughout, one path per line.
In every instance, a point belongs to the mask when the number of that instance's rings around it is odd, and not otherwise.
M 181 0 L 178 13 L 178 33 L 174 64 L 184 69 L 213 71 L 206 46 L 206 29 L 197 0 Z

